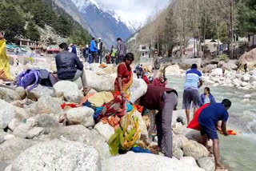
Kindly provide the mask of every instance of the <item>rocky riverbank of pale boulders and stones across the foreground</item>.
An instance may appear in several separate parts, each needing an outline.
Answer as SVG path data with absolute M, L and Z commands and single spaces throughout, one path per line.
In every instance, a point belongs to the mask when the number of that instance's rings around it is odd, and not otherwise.
M 43 67 L 54 70 L 50 65 Z M 22 66 L 11 68 L 11 72 L 15 74 L 22 69 Z M 85 69 L 92 92 L 114 90 L 113 66 L 102 69 L 86 64 Z M 140 96 L 145 89 L 139 82 L 134 78 L 132 97 Z M 6 171 L 214 170 L 214 158 L 208 157 L 207 149 L 198 143 L 200 133 L 176 121 L 180 116 L 185 117 L 183 110 L 174 112 L 173 158 L 133 152 L 111 157 L 107 142 L 114 134 L 113 127 L 102 122 L 95 125 L 94 111 L 89 107 L 61 108 L 63 102 L 78 102 L 81 88 L 81 82 L 58 82 L 53 89 L 39 85 L 26 101 L 24 89 L 0 87 L 0 163 L 9 164 Z M 63 114 L 75 125 L 60 124 L 58 120 Z M 140 129 L 147 135 L 145 125 L 143 121 Z

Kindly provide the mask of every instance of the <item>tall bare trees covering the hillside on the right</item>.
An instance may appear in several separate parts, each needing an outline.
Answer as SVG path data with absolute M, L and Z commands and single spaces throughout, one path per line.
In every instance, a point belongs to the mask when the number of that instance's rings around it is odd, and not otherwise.
M 227 44 L 226 54 L 234 58 L 234 42 L 254 34 L 255 0 L 174 0 L 148 19 L 138 40 L 170 54 L 174 46 L 186 47 L 189 38 L 198 39 L 198 50 L 206 39 L 215 39 Z

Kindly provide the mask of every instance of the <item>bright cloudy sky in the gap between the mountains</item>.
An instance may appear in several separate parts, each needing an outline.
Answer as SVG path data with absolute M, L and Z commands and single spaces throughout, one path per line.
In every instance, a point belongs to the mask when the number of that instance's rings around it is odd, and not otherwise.
M 94 0 L 114 10 L 123 18 L 129 19 L 132 23 L 144 23 L 150 14 L 156 9 L 162 10 L 168 6 L 170 0 Z

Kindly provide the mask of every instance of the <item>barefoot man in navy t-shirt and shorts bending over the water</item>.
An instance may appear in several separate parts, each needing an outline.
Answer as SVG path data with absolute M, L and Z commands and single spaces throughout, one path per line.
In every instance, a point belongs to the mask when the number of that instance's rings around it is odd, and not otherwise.
M 230 109 L 230 106 L 231 101 L 224 99 L 222 103 L 213 103 L 202 109 L 198 117 L 198 123 L 201 127 L 202 145 L 208 148 L 208 139 L 210 138 L 213 141 L 216 169 L 226 169 L 219 160 L 219 141 L 216 125 L 218 121 L 222 121 L 222 132 L 225 136 L 228 136 L 226 132 L 226 121 L 229 117 L 227 110 Z

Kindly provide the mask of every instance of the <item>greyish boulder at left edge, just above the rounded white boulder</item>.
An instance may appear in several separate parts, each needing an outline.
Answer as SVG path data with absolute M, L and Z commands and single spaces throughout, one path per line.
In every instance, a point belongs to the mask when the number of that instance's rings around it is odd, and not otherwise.
M 21 100 L 22 98 L 14 89 L 0 87 L 0 99 L 3 99 L 7 102 Z

